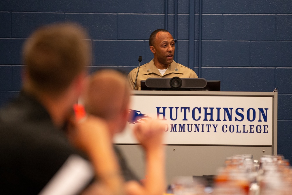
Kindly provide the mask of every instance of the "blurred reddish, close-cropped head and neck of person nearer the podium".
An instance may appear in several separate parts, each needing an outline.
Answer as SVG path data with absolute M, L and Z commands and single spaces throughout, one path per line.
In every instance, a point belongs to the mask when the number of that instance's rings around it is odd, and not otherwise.
M 124 130 L 129 103 L 130 89 L 122 73 L 100 70 L 90 76 L 84 96 L 86 112 L 105 119 L 112 137 Z

